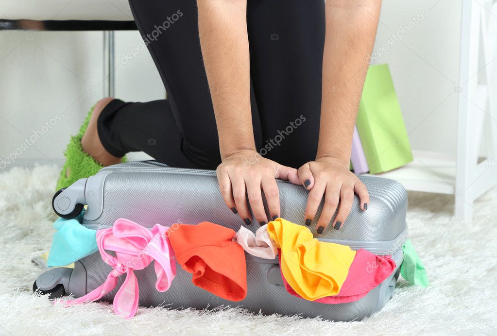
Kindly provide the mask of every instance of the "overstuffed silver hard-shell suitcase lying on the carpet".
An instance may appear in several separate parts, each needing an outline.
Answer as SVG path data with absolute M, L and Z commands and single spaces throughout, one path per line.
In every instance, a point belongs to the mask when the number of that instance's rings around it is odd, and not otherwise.
M 310 229 L 322 241 L 348 245 L 352 249 L 366 249 L 379 255 L 391 254 L 397 264 L 395 272 L 364 298 L 351 303 L 322 304 L 306 301 L 288 294 L 282 286 L 278 260 L 267 260 L 247 254 L 248 293 L 243 301 L 221 299 L 196 287 L 191 274 L 179 265 L 176 277 L 166 292 L 155 289 L 153 264 L 135 271 L 140 286 L 140 305 L 172 308 L 204 309 L 220 305 L 242 306 L 263 314 L 321 316 L 333 321 L 361 320 L 380 310 L 394 294 L 399 267 L 404 255 L 402 245 L 407 235 L 407 194 L 403 186 L 393 180 L 359 176 L 366 185 L 370 202 L 361 211 L 355 196 L 352 210 L 340 230 L 331 226 L 321 235 L 316 233 L 316 221 Z M 308 191 L 286 181 L 278 181 L 281 217 L 304 225 Z M 246 225 L 224 203 L 213 170 L 170 168 L 155 161 L 129 162 L 103 168 L 96 175 L 83 178 L 56 193 L 54 210 L 63 217 L 74 217 L 87 204 L 83 225 L 104 229 L 118 218 L 130 219 L 152 228 L 155 224 L 217 223 L 235 231 L 245 226 L 255 232 L 259 224 Z M 266 209 L 267 210 L 267 209 Z M 268 217 L 269 218 L 269 217 Z M 75 262 L 71 268 L 53 268 L 41 274 L 34 289 L 52 296 L 74 294 L 81 297 L 101 285 L 111 267 L 98 252 Z M 112 302 L 124 280 L 121 276 L 116 288 L 102 300 Z

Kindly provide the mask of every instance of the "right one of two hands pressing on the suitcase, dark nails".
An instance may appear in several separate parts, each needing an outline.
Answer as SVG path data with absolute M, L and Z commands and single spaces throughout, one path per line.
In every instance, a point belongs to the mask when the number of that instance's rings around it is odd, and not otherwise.
M 326 230 L 337 207 L 338 212 L 333 227 L 335 230 L 340 228 L 352 208 L 354 192 L 359 195 L 361 209 L 368 208 L 369 195 L 366 186 L 349 170 L 348 162 L 331 157 L 319 158 L 300 167 L 299 178 L 310 190 L 305 214 L 306 225 L 311 225 L 323 195 L 325 196 L 323 210 L 318 220 L 319 234 Z

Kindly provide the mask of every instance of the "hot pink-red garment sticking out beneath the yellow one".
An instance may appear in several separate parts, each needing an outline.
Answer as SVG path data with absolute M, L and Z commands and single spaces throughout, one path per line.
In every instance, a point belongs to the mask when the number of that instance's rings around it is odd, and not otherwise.
M 281 260 L 281 253 L 279 253 Z M 317 299 L 313 302 L 337 304 L 354 302 L 365 297 L 369 291 L 385 281 L 393 271 L 396 264 L 391 255 L 375 255 L 364 249 L 356 252 L 354 260 L 348 270 L 345 282 L 340 292 L 333 296 Z M 285 280 L 281 274 L 283 284 L 288 293 L 302 298 Z

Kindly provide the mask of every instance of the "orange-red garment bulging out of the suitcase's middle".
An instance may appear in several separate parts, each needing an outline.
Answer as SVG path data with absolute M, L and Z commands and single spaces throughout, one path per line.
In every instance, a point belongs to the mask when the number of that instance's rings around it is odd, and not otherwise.
M 235 231 L 202 222 L 174 224 L 168 232 L 176 260 L 185 271 L 193 274 L 194 285 L 223 299 L 245 299 L 247 265 L 244 249 L 231 241 Z

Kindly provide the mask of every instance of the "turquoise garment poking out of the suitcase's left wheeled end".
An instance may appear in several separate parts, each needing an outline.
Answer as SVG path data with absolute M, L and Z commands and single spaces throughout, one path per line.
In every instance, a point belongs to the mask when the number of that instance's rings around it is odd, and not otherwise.
M 59 218 L 53 227 L 52 247 L 48 254 L 48 267 L 65 266 L 98 251 L 96 231 L 87 229 L 83 223 L 83 212 L 76 218 Z

